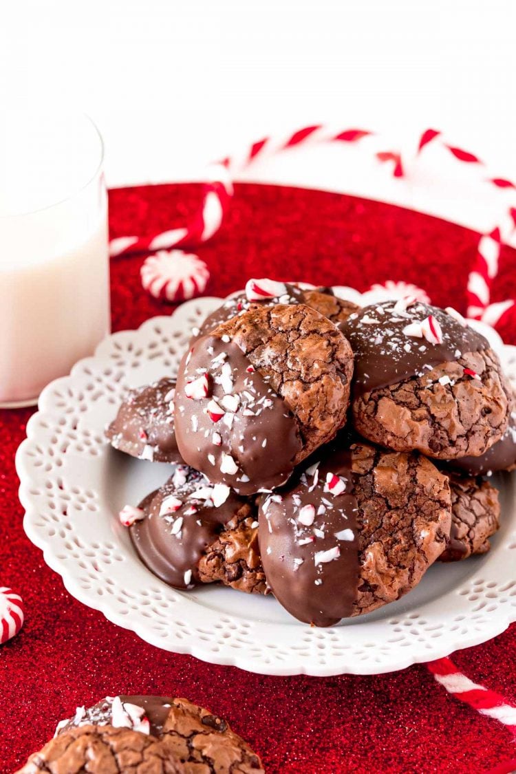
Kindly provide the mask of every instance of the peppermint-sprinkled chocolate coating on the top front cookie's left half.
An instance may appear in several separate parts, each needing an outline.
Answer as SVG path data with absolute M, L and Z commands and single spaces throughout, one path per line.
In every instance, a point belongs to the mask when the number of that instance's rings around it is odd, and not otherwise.
M 206 395 L 189 398 L 203 375 Z M 302 452 L 296 417 L 270 381 L 225 334 L 200 338 L 179 366 L 176 437 L 183 459 L 244 495 L 284 483 Z

